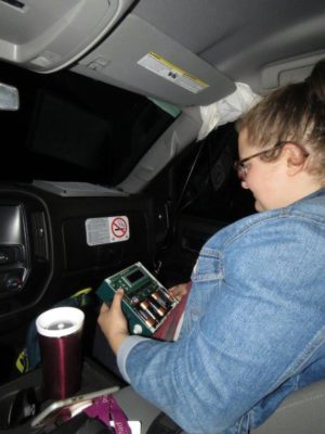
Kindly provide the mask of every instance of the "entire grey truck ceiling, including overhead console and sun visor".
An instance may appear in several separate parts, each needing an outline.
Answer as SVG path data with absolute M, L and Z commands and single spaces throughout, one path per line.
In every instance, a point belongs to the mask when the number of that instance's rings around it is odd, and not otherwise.
M 25 0 L 20 11 L 13 3 L 0 0 L 0 58 L 40 73 L 69 66 L 179 106 L 210 104 L 234 81 L 263 94 L 303 79 L 325 55 L 324 0 Z M 208 86 L 188 91 L 153 74 L 139 65 L 150 52 Z

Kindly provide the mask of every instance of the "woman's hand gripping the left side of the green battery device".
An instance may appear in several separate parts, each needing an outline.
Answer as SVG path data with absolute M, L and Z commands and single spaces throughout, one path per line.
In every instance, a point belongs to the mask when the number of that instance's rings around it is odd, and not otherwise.
M 121 309 L 122 290 L 117 290 L 110 307 L 103 303 L 98 318 L 100 328 L 106 336 L 113 352 L 129 336 L 128 322 Z

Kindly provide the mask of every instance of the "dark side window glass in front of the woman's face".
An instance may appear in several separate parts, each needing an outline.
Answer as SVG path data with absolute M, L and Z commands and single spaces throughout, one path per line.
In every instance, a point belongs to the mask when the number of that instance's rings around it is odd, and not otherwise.
M 200 151 L 197 151 L 200 146 Z M 232 222 L 252 214 L 253 200 L 249 191 L 240 187 L 233 162 L 237 158 L 237 132 L 229 124 L 210 132 L 198 143 L 199 155 L 191 153 L 179 164 L 180 186 L 185 186 L 182 199 L 182 214 L 214 221 Z M 182 188 L 182 187 L 181 187 Z

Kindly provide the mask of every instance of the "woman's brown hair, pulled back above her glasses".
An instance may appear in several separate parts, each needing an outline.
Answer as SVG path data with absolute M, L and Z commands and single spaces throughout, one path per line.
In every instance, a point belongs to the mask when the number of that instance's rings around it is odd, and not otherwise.
M 284 86 L 244 114 L 237 130 L 247 130 L 257 148 L 292 140 L 313 156 L 309 171 L 325 181 L 325 59 L 303 81 Z

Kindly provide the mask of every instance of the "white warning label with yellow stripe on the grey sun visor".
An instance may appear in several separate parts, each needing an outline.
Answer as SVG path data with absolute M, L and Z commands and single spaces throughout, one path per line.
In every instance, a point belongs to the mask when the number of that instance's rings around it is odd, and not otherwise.
M 173 65 L 154 52 L 144 55 L 138 64 L 193 93 L 198 93 L 209 87 L 207 82 Z

